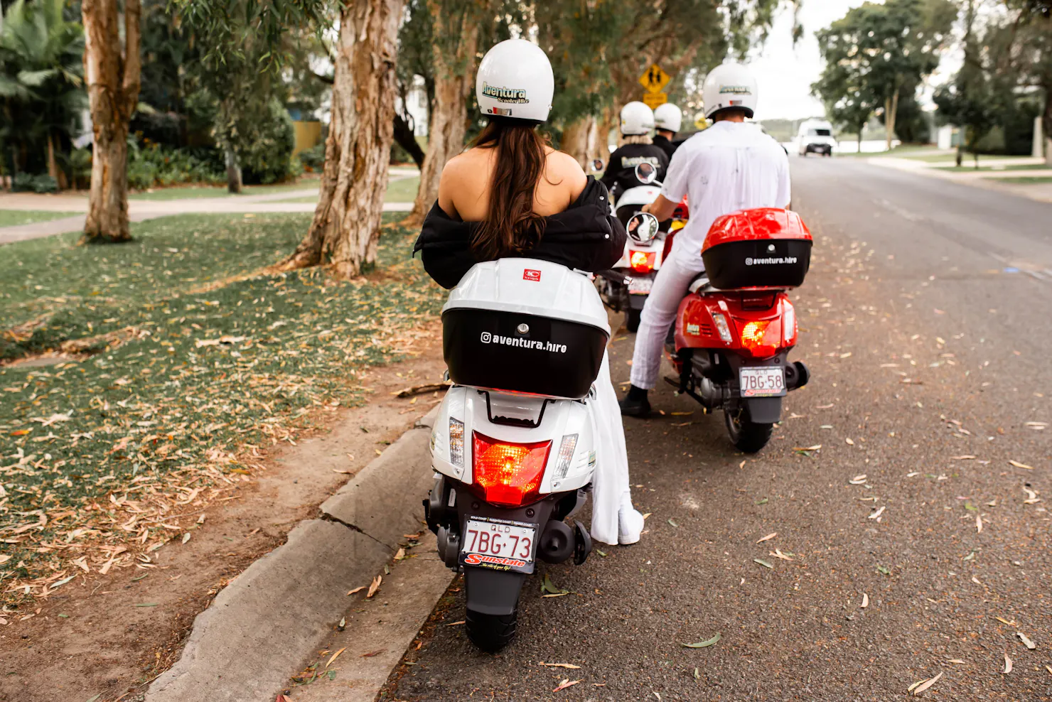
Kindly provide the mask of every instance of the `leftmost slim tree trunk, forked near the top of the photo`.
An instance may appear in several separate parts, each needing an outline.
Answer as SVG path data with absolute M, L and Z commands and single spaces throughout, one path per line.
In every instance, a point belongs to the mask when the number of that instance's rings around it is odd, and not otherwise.
M 128 232 L 128 123 L 139 101 L 140 0 L 124 2 L 121 47 L 118 0 L 83 0 L 84 82 L 92 111 L 94 153 L 86 242 L 123 242 Z

